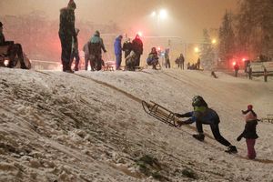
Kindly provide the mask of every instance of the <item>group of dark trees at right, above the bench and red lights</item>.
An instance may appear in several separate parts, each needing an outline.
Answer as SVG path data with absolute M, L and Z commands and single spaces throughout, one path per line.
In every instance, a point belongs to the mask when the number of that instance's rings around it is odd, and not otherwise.
M 219 28 L 219 57 L 273 57 L 273 1 L 241 0 L 236 14 L 226 12 Z

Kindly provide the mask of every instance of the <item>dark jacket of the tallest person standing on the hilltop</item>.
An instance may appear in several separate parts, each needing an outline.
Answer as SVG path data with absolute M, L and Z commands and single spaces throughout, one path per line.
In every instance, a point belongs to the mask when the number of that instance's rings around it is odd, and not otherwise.
M 59 34 L 66 36 L 71 35 L 76 40 L 74 10 L 69 8 L 63 8 L 60 12 Z

